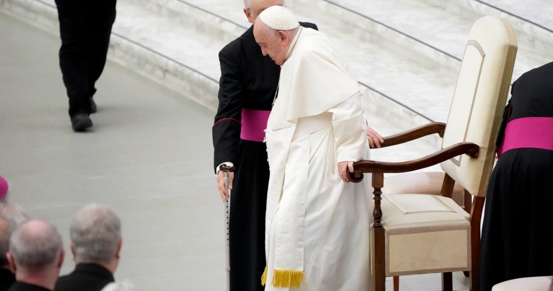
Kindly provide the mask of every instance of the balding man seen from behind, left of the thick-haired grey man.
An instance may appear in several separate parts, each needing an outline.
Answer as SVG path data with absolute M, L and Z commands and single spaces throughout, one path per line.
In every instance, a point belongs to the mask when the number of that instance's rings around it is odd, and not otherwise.
M 45 291 L 54 289 L 65 250 L 54 225 L 29 220 L 13 232 L 6 256 L 17 278 L 9 291 Z

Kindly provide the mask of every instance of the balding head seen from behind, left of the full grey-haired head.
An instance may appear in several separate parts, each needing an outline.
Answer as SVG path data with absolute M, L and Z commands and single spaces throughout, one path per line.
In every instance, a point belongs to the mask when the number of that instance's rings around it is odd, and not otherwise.
M 55 266 L 62 249 L 58 230 L 45 220 L 29 220 L 19 225 L 9 241 L 9 253 L 18 268 Z

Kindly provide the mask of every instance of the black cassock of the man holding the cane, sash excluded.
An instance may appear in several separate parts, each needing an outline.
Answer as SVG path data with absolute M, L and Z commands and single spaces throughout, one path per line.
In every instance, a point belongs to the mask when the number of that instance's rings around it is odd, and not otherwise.
M 312 23 L 300 24 L 317 29 Z M 214 166 L 232 162 L 236 167 L 229 218 L 231 290 L 263 290 L 267 147 L 263 141 L 241 139 L 241 122 L 243 109 L 272 109 L 280 66 L 263 56 L 253 26 L 223 47 L 219 61 L 219 108 L 212 128 Z

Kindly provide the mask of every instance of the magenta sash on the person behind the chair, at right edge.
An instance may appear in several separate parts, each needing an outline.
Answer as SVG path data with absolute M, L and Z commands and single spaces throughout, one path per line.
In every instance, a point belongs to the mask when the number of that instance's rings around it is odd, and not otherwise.
M 523 147 L 553 151 L 553 118 L 525 117 L 507 123 L 503 144 L 497 156 Z

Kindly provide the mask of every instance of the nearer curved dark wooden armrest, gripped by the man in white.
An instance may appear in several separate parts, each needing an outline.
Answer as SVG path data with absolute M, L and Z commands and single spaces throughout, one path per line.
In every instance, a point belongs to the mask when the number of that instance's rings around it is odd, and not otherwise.
M 360 161 L 353 164 L 354 173 L 349 173 L 350 181 L 354 183 L 363 180 L 363 173 L 403 173 L 420 170 L 434 166 L 437 163 L 447 161 L 452 157 L 467 154 L 470 157 L 477 157 L 480 147 L 472 142 L 459 142 L 434 154 L 408 162 L 379 162 Z

